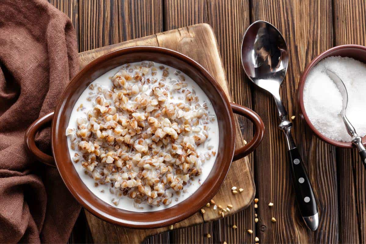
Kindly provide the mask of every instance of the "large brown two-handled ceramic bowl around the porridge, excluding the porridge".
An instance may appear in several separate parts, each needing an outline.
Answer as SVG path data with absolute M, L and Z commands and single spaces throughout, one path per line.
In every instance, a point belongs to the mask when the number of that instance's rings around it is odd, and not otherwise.
M 119 65 L 143 60 L 156 61 L 172 66 L 195 80 L 213 104 L 219 124 L 220 142 L 217 159 L 211 173 L 193 195 L 165 210 L 138 213 L 113 207 L 97 198 L 86 187 L 79 178 L 73 162 L 71 162 L 65 132 L 76 100 L 93 80 Z M 251 142 L 235 151 L 233 112 L 249 118 L 255 125 L 255 135 Z M 52 153 L 54 158 L 42 153 L 34 143 L 36 132 L 47 121 L 51 120 Z M 246 107 L 229 102 L 220 85 L 194 60 L 165 48 L 135 46 L 107 53 L 83 68 L 61 94 L 55 112 L 36 120 L 30 125 L 26 132 L 25 142 L 30 153 L 36 159 L 48 165 L 56 163 L 67 188 L 88 211 L 113 224 L 128 228 L 148 229 L 174 224 L 201 209 L 219 190 L 229 171 L 233 157 L 234 159 L 239 159 L 251 153 L 261 142 L 263 133 L 264 124 L 260 117 Z

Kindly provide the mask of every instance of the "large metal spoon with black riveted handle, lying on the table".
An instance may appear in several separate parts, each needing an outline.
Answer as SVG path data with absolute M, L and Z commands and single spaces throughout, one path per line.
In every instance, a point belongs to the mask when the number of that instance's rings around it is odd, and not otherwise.
M 319 224 L 318 207 L 306 169 L 291 135 L 292 123 L 280 98 L 280 85 L 288 65 L 287 44 L 279 30 L 265 21 L 251 24 L 242 42 L 244 71 L 255 85 L 267 90 L 276 101 L 280 125 L 287 140 L 292 181 L 300 213 L 309 229 L 316 230 Z

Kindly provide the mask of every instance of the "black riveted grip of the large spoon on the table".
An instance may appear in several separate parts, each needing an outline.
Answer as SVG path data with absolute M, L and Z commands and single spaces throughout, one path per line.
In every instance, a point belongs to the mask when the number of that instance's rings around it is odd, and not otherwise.
M 296 200 L 301 212 L 302 217 L 313 216 L 318 213 L 317 203 L 313 192 L 313 187 L 307 172 L 304 167 L 303 161 L 300 157 L 297 147 L 288 151 L 291 160 L 291 173 L 292 182 L 294 183 Z

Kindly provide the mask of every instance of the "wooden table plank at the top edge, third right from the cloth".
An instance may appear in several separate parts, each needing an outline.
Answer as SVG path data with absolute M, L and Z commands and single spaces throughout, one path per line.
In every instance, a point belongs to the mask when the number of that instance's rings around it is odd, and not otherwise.
M 118 9 L 120 42 L 163 31 L 162 0 L 119 0 Z

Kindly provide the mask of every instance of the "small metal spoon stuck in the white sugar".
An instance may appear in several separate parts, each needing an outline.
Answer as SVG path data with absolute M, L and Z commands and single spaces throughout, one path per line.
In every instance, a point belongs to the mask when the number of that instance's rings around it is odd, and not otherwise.
M 362 141 L 361 141 L 362 137 L 357 135 L 355 128 L 353 127 L 353 125 L 350 123 L 350 121 L 346 117 L 346 109 L 347 109 L 347 104 L 348 104 L 348 93 L 347 93 L 346 86 L 344 85 L 343 81 L 339 78 L 338 75 L 336 75 L 335 73 L 333 73 L 330 70 L 326 70 L 325 72 L 330 77 L 330 79 L 332 79 L 333 82 L 336 84 L 336 86 L 338 87 L 338 90 L 340 91 L 340 93 L 342 95 L 341 116 L 343 119 L 343 123 L 346 126 L 348 134 L 350 134 L 350 136 L 352 138 L 352 140 L 351 140 L 352 144 L 354 144 L 354 146 L 356 146 L 358 148 L 359 154 L 362 159 L 362 164 L 366 168 L 366 148 L 362 144 Z

